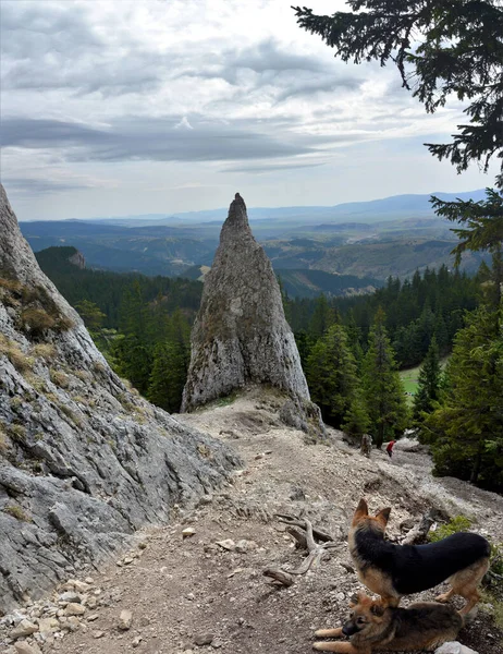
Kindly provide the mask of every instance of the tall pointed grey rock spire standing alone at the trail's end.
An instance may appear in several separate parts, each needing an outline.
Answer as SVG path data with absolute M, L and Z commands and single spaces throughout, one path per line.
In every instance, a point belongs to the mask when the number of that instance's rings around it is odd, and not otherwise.
M 237 193 L 205 279 L 182 411 L 256 384 L 309 401 L 278 281 Z

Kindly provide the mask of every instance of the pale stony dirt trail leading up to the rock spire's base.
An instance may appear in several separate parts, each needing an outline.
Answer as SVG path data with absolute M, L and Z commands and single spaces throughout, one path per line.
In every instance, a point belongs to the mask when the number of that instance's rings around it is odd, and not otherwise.
M 503 541 L 502 497 L 455 480 L 433 481 L 428 457 L 405 452 L 400 444 L 391 462 L 384 452 L 361 457 L 335 433 L 331 446 L 306 445 L 300 432 L 279 422 L 277 410 L 274 398 L 257 396 L 180 416 L 232 443 L 244 470 L 198 507 L 180 510 L 169 526 L 145 532 L 145 547 L 120 559 L 122 565 L 89 572 L 98 606 L 86 609 L 75 632 L 46 642 L 44 653 L 306 654 L 314 630 L 338 626 L 348 597 L 361 589 L 341 565 L 351 564 L 346 531 L 360 496 L 371 509 L 393 507 L 391 537 L 433 504 L 477 517 L 477 530 Z M 289 589 L 273 588 L 262 576 L 267 567 L 294 569 L 303 560 L 277 512 L 306 513 L 338 541 L 330 558 Z M 186 528 L 195 533 L 182 538 Z M 242 552 L 217 544 L 225 540 Z M 132 613 L 126 631 L 118 628 L 122 610 Z M 501 654 L 502 635 L 480 610 L 459 640 L 480 654 Z

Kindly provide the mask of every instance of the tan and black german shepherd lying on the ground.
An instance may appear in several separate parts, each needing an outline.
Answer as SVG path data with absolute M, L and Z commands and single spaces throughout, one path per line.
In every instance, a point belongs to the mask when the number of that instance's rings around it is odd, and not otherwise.
M 463 617 L 451 606 L 434 602 L 413 604 L 408 608 L 384 606 L 364 593 L 351 598 L 349 619 L 339 629 L 320 629 L 320 638 L 349 637 L 349 642 L 321 641 L 315 650 L 343 654 L 371 654 L 373 650 L 435 650 L 456 640 Z

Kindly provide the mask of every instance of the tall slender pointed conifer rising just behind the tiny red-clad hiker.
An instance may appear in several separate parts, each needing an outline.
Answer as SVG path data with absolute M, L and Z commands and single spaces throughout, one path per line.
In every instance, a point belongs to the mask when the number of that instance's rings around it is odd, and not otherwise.
M 364 395 L 376 447 L 398 437 L 407 426 L 405 391 L 396 371 L 393 350 L 384 327 L 384 312 L 379 310 L 370 329 L 364 361 Z

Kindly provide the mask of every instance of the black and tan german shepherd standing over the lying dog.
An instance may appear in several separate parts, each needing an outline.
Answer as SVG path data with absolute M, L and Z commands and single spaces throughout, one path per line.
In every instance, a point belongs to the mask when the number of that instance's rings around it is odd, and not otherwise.
M 477 586 L 489 569 L 490 545 L 479 534 L 456 533 L 428 545 L 394 545 L 384 541 L 390 508 L 375 517 L 360 499 L 349 529 L 349 552 L 358 578 L 381 596 L 387 606 L 398 606 L 402 595 L 420 593 L 449 579 L 451 590 L 435 597 L 447 602 L 461 595 L 469 613 L 480 594 Z

